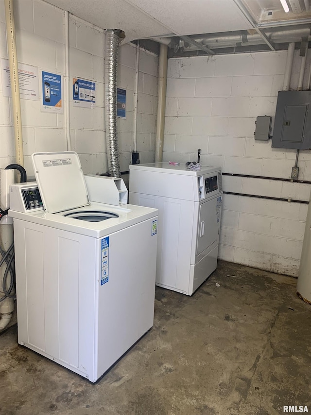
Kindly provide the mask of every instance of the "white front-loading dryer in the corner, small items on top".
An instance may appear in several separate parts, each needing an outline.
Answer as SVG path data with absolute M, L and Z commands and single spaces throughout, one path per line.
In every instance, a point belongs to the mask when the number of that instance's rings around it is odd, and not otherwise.
M 217 267 L 221 167 L 130 165 L 129 202 L 159 210 L 156 285 L 191 295 Z

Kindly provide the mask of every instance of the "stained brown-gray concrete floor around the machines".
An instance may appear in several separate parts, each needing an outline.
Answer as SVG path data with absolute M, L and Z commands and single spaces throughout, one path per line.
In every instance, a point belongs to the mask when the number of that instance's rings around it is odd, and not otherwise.
M 295 285 L 219 262 L 192 297 L 157 288 L 154 327 L 96 384 L 18 346 L 13 326 L 0 336 L 0 414 L 311 412 L 311 305 Z

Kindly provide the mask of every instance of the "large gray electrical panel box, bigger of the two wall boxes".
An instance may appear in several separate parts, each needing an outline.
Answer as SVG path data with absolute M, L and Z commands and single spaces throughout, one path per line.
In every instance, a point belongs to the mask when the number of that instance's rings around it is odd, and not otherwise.
M 279 91 L 272 147 L 311 149 L 311 91 Z

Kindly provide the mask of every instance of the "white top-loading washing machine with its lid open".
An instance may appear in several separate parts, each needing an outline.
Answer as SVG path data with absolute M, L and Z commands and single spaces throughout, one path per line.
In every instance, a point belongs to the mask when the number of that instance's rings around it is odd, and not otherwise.
M 95 382 L 153 325 L 157 210 L 90 201 L 74 152 L 33 164 L 10 188 L 18 343 Z

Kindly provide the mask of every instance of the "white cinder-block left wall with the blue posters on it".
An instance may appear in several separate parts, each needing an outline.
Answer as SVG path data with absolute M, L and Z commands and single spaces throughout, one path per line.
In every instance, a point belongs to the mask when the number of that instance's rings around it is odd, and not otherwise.
M 15 0 L 17 54 L 20 63 L 65 74 L 64 11 L 42 0 Z M 104 31 L 70 16 L 70 77 L 96 82 L 97 107 L 76 108 L 70 96 L 70 134 L 85 173 L 105 173 L 107 156 L 104 127 Z M 118 86 L 126 89 L 126 119 L 118 119 L 121 171 L 128 170 L 134 149 L 133 91 L 136 46 L 120 47 Z M 0 1 L 0 58 L 7 59 L 4 2 Z M 141 50 L 139 71 L 138 151 L 142 162 L 154 160 L 158 60 Z M 62 78 L 64 83 L 64 78 Z M 40 89 L 40 99 L 42 93 Z M 0 168 L 14 162 L 11 99 L 0 81 Z M 35 151 L 66 151 L 65 117 L 40 111 L 40 101 L 21 100 L 25 168 L 33 176 L 30 156 Z

